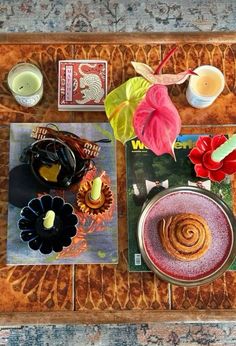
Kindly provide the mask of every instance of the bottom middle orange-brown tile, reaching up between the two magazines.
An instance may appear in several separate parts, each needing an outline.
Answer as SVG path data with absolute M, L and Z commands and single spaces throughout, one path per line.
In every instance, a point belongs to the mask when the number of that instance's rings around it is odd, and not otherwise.
M 168 309 L 167 283 L 153 273 L 128 272 L 125 217 L 119 221 L 118 265 L 76 266 L 76 310 Z

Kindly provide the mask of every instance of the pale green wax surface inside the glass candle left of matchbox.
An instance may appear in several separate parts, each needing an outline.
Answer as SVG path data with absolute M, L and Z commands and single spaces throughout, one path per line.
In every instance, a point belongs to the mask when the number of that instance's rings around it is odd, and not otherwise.
M 39 77 L 30 71 L 19 73 L 12 81 L 12 90 L 22 96 L 32 95 L 39 88 Z

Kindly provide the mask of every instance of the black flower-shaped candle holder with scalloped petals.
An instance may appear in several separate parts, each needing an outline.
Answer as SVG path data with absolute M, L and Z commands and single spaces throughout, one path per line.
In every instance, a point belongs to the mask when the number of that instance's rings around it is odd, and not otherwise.
M 43 218 L 48 210 L 55 212 L 55 220 L 52 228 L 45 229 Z M 21 210 L 20 215 L 18 227 L 21 239 L 28 242 L 32 250 L 39 250 L 42 254 L 62 251 L 63 247 L 71 244 L 71 238 L 76 234 L 78 219 L 73 214 L 73 207 L 59 196 L 34 198 Z

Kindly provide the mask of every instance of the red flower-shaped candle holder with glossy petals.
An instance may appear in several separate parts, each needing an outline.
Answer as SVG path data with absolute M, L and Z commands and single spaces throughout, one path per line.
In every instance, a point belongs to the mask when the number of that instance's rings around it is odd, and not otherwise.
M 195 165 L 194 170 L 197 177 L 220 182 L 226 175 L 236 172 L 236 150 L 220 162 L 211 159 L 212 152 L 226 141 L 227 138 L 223 135 L 216 135 L 213 138 L 206 136 L 198 138 L 196 146 L 189 153 L 189 159 Z

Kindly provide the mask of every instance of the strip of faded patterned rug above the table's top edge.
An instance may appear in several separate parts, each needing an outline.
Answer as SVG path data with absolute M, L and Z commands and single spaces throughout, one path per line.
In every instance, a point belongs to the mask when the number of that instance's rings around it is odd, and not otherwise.
M 234 0 L 0 2 L 0 31 L 225 31 L 235 17 Z

